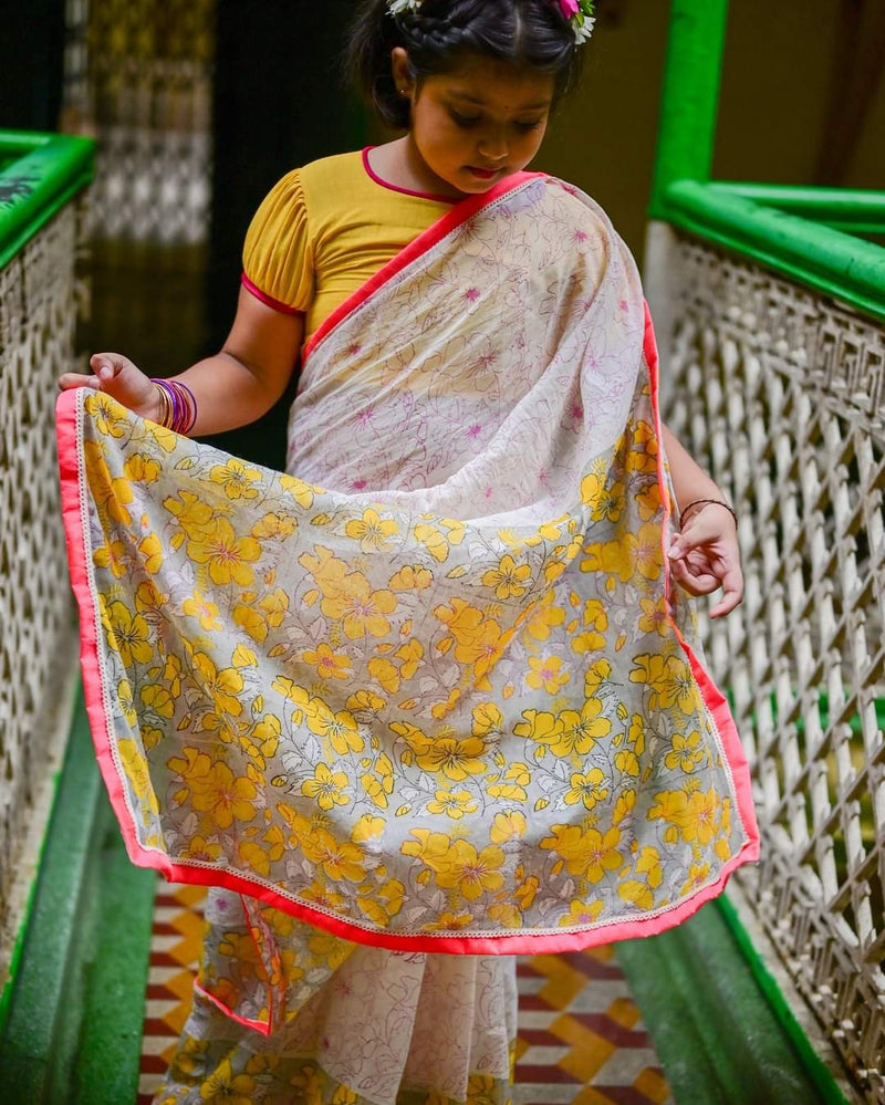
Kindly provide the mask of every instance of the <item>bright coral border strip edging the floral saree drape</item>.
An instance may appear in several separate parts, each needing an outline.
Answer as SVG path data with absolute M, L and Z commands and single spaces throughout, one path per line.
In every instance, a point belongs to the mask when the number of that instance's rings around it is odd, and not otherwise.
M 324 324 L 306 351 L 313 356 L 321 343 L 333 335 L 336 330 L 351 320 L 354 312 L 368 303 L 374 294 L 385 288 L 391 279 L 400 273 L 413 260 L 419 259 L 448 233 L 462 227 L 477 212 L 493 205 L 537 179 L 541 175 L 523 174 L 517 181 L 504 181 L 482 197 L 472 197 L 447 212 L 428 231 L 421 234 L 397 258 L 386 265 L 373 280 L 368 281 Z M 654 334 L 647 307 L 644 306 L 644 338 L 642 343 L 643 358 L 650 384 L 649 405 L 655 424 L 655 434 L 660 439 L 660 419 L 658 405 L 658 361 Z M 126 788 L 125 767 L 121 762 L 119 750 L 112 732 L 111 718 L 113 709 L 108 680 L 102 670 L 100 655 L 101 609 L 98 594 L 92 571 L 87 538 L 88 503 L 86 497 L 86 477 L 84 472 L 83 418 L 85 389 L 63 393 L 58 404 L 58 441 L 59 461 L 62 484 L 62 510 L 69 546 L 71 580 L 81 615 L 81 664 L 86 700 L 86 709 L 95 742 L 96 757 L 108 795 L 121 824 L 128 855 L 133 863 L 156 868 L 170 880 L 204 885 L 223 886 L 228 889 L 254 898 L 283 913 L 291 914 L 320 928 L 355 942 L 373 945 L 399 951 L 447 952 L 462 955 L 518 955 L 540 951 L 571 951 L 607 944 L 614 940 L 650 936 L 680 924 L 690 917 L 704 903 L 716 897 L 725 888 L 731 873 L 742 863 L 752 862 L 759 857 L 759 833 L 753 812 L 750 776 L 743 750 L 731 719 L 727 702 L 700 660 L 686 640 L 680 627 L 671 613 L 668 613 L 669 626 L 687 663 L 690 666 L 697 688 L 700 692 L 704 708 L 712 719 L 716 736 L 721 741 L 725 752 L 721 765 L 737 801 L 737 815 L 742 828 L 740 846 L 718 867 L 715 878 L 709 879 L 688 897 L 674 904 L 656 909 L 646 909 L 643 916 L 621 918 L 606 921 L 591 921 L 583 918 L 581 927 L 556 927 L 534 925 L 531 931 L 487 930 L 472 931 L 466 935 L 458 929 L 427 931 L 389 931 L 362 924 L 360 920 L 346 918 L 333 909 L 321 905 L 311 905 L 304 900 L 295 900 L 285 893 L 274 889 L 257 878 L 248 877 L 229 868 L 200 859 L 188 859 L 186 863 L 175 862 L 169 855 L 154 847 L 146 847 L 139 840 L 136 810 Z M 219 455 L 220 456 L 220 455 Z M 664 457 L 660 450 L 656 455 L 657 492 L 663 507 L 663 524 L 660 527 L 660 571 L 663 573 L 664 594 L 669 598 L 670 580 L 667 569 L 665 534 L 669 518 L 669 494 Z M 669 607 L 668 607 L 669 608 Z M 153 793 L 153 792 L 152 792 Z M 306 793 L 306 792 L 305 792 Z

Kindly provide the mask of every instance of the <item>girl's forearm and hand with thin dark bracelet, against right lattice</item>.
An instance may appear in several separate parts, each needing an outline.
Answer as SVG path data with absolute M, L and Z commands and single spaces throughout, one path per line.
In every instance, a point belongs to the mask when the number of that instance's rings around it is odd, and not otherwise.
M 666 426 L 663 435 L 677 508 L 685 511 L 697 499 L 723 502 L 717 484 Z M 730 614 L 743 597 L 737 527 L 725 507 L 716 502 L 694 507 L 670 543 L 669 560 L 674 576 L 689 594 L 708 595 L 722 588 L 710 617 Z

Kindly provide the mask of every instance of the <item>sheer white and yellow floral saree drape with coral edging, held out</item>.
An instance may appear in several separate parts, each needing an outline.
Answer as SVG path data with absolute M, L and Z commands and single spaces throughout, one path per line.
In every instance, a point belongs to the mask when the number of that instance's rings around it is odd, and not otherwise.
M 317 335 L 288 473 L 60 400 L 131 855 L 388 948 L 659 931 L 758 832 L 669 592 L 635 265 L 540 177 L 417 247 Z

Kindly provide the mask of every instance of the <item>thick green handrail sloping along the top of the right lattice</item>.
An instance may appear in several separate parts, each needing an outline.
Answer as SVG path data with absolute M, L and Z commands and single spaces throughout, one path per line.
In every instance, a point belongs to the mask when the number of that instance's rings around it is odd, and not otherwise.
M 658 217 L 885 320 L 881 246 L 696 180 L 673 183 Z

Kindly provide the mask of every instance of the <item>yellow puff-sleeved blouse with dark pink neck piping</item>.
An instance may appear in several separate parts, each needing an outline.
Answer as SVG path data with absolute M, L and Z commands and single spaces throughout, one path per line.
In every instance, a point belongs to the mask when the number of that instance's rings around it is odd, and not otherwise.
M 312 161 L 278 181 L 256 212 L 243 283 L 278 310 L 303 312 L 306 341 L 451 205 L 386 184 L 368 150 Z

